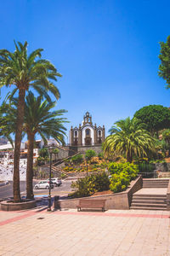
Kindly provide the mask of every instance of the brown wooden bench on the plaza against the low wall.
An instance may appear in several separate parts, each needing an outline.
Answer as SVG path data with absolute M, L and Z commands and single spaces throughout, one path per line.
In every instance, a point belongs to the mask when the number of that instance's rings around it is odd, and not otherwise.
M 77 211 L 80 212 L 82 208 L 101 209 L 102 212 L 105 212 L 105 199 L 80 199 Z

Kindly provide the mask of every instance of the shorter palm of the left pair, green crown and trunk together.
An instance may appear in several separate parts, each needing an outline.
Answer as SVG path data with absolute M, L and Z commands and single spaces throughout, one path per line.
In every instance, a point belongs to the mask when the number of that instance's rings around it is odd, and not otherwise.
M 66 112 L 65 109 L 51 111 L 54 108 L 55 102 L 42 101 L 42 96 L 37 98 L 31 93 L 26 96 L 25 119 L 23 131 L 28 137 L 28 152 L 27 152 L 27 170 L 26 170 L 26 198 L 34 197 L 32 189 L 33 178 L 33 148 L 35 136 L 39 134 L 44 143 L 47 143 L 47 138 L 54 137 L 58 143 L 65 143 L 64 126 L 66 119 L 61 116 Z

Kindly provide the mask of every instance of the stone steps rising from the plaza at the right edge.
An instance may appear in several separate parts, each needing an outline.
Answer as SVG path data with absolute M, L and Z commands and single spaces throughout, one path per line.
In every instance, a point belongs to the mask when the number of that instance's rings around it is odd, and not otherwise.
M 144 192 L 144 194 L 134 193 L 130 209 L 166 211 L 167 202 L 165 200 L 167 199 L 167 195 L 163 195 L 161 191 L 159 192 L 159 189 L 166 189 L 168 182 L 169 179 L 143 179 L 143 189 L 156 189 L 156 192 L 148 191 L 148 193 Z

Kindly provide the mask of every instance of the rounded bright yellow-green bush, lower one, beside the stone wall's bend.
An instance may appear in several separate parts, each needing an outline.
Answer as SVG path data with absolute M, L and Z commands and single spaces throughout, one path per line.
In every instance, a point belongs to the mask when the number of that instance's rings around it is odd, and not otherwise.
M 119 174 L 112 174 L 111 175 L 111 185 L 110 189 L 114 193 L 121 192 L 127 189 L 127 186 L 130 183 L 130 178 L 126 172 L 121 172 Z

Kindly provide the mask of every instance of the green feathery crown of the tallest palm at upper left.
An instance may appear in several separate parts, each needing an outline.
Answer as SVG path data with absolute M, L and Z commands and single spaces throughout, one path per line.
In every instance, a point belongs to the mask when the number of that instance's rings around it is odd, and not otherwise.
M 61 74 L 50 61 L 41 59 L 43 49 L 36 49 L 28 55 L 27 42 L 14 44 L 14 53 L 0 49 L 0 88 L 14 84 L 18 90 L 28 90 L 31 86 L 48 99 L 47 91 L 59 99 L 59 90 L 52 80 L 57 81 L 56 77 L 61 77 Z

